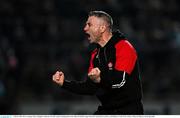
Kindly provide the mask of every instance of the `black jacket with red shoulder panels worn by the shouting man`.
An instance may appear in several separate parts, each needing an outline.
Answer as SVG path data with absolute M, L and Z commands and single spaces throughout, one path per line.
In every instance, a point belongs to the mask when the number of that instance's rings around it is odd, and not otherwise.
M 92 51 L 89 71 L 98 67 L 101 82 L 96 84 L 89 78 L 82 82 L 65 80 L 63 88 L 78 94 L 96 95 L 101 109 L 119 109 L 124 114 L 142 114 L 142 91 L 137 53 L 120 33 L 104 46 Z

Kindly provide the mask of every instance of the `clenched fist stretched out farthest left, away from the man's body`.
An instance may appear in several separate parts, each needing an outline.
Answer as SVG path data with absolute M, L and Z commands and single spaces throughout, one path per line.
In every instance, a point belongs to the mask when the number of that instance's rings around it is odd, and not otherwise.
M 64 83 L 64 73 L 62 71 L 57 71 L 53 76 L 52 79 L 54 82 L 59 84 L 60 86 Z

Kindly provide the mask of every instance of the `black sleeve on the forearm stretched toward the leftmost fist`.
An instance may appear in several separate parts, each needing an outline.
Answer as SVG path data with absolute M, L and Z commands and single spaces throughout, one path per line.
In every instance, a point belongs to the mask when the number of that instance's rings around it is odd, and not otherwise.
M 80 82 L 65 80 L 62 88 L 80 95 L 93 95 L 98 89 L 98 84 L 95 84 L 89 78 Z

